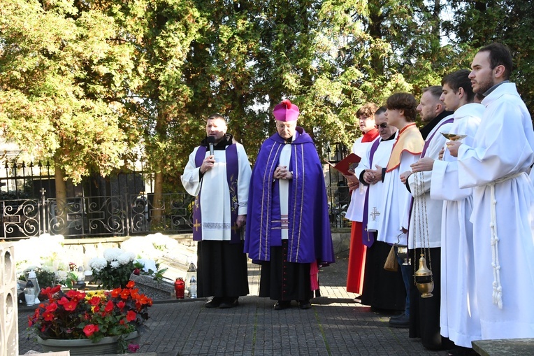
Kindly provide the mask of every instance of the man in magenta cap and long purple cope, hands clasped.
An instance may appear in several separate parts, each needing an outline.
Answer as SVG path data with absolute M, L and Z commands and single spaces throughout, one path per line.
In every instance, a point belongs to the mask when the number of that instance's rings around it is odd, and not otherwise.
M 326 187 L 310 135 L 296 126 L 298 107 L 275 106 L 277 133 L 259 150 L 250 180 L 245 252 L 261 264 L 260 297 L 311 307 L 317 265 L 334 262 Z

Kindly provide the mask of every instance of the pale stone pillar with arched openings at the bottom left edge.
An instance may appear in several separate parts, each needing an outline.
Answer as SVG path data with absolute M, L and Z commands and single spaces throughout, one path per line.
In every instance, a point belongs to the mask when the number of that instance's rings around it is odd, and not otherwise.
M 16 356 L 19 334 L 13 243 L 0 243 L 0 276 L 0 355 Z

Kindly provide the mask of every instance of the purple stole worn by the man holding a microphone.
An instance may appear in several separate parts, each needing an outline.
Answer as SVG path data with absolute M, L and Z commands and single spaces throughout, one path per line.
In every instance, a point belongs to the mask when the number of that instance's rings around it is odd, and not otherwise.
M 195 164 L 197 167 L 202 165 L 205 158 L 205 146 L 199 146 L 196 150 Z M 239 175 L 239 161 L 238 150 L 235 143 L 228 145 L 225 150 L 226 153 L 226 180 L 230 190 L 230 222 L 231 222 L 231 238 L 230 243 L 239 243 L 241 241 L 240 229 L 236 225 L 238 218 L 238 175 Z M 202 178 L 203 180 L 204 178 Z M 202 184 L 202 183 L 201 183 Z M 202 241 L 202 214 L 201 214 L 201 193 L 195 197 L 193 204 L 193 240 Z

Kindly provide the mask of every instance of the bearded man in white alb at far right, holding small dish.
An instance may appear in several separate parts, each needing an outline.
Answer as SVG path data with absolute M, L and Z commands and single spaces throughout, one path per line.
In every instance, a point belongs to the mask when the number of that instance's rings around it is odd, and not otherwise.
M 469 75 L 486 106 L 472 145 L 447 142 L 459 186 L 473 187 L 473 248 L 482 339 L 534 337 L 534 162 L 531 115 L 510 83 L 512 56 L 481 48 Z

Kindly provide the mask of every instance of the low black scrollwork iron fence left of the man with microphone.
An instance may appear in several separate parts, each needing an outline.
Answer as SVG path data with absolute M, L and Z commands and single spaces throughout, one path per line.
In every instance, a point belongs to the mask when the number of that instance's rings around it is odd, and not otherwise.
M 191 203 L 186 193 L 0 201 L 0 238 L 40 234 L 66 237 L 127 236 L 154 231 L 174 234 L 192 232 Z

